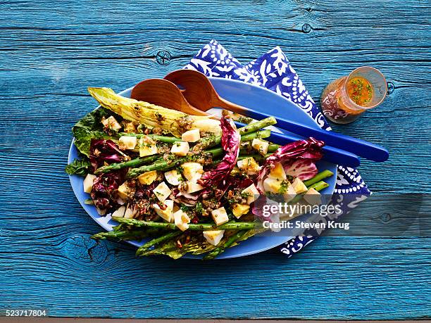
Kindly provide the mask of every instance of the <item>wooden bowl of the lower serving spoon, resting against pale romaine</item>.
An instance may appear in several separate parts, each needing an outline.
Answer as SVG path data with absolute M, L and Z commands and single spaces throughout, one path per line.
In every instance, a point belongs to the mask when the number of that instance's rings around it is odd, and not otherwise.
M 130 98 L 181 111 L 189 115 L 208 115 L 208 113 L 190 105 L 180 89 L 168 80 L 149 79 L 139 82 L 132 89 Z

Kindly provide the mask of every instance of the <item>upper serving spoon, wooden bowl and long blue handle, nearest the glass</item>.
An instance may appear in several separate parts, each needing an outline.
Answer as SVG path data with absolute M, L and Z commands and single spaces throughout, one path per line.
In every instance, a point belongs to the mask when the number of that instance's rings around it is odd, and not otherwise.
M 277 113 L 270 115 L 227 101 L 218 95 L 210 80 L 201 72 L 195 70 L 175 70 L 166 75 L 165 80 L 169 80 L 182 88 L 182 94 L 185 96 L 185 99 L 201 111 L 220 107 L 257 120 L 273 116 L 277 119 L 278 128 L 285 129 L 299 136 L 313 137 L 325 141 L 327 146 L 338 148 L 338 153 L 348 151 L 376 162 L 382 162 L 389 158 L 387 149 L 382 146 L 344 134 L 338 134 L 337 132 L 315 129 L 292 120 L 287 120 L 280 115 L 281 113 L 285 114 L 285 111 L 280 111 L 279 115 L 276 115 Z M 340 163 L 340 160 L 338 163 Z

